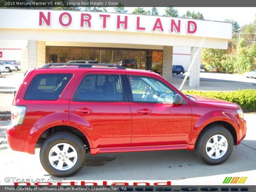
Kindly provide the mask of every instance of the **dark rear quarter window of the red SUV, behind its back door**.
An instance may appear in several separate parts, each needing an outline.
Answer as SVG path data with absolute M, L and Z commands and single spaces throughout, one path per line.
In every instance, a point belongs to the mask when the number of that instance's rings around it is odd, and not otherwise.
M 24 100 L 57 100 L 73 74 L 40 74 L 30 82 Z

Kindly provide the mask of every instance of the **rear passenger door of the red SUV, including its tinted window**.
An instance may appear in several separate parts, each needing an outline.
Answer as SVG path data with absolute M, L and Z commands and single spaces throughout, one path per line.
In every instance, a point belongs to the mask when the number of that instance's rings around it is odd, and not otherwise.
M 92 148 L 130 146 L 132 117 L 122 76 L 86 73 L 70 98 L 69 120 L 84 130 Z

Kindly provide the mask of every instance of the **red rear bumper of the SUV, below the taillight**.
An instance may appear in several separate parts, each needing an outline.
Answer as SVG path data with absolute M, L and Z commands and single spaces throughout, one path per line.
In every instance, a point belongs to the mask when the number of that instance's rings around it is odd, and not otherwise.
M 34 126 L 9 125 L 6 138 L 12 150 L 35 154 L 36 142 L 43 132 Z

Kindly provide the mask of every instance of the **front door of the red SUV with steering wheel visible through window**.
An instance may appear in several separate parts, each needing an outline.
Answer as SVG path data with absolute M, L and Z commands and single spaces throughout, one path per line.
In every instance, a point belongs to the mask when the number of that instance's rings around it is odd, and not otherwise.
M 132 101 L 131 146 L 187 144 L 191 106 L 174 104 L 175 92 L 160 80 L 128 76 Z

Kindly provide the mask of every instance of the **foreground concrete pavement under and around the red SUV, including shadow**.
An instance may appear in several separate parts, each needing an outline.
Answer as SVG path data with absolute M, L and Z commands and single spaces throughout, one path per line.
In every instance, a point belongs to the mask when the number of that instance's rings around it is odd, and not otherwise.
M 229 159 L 209 166 L 200 161 L 194 151 L 170 150 L 132 153 L 87 154 L 84 168 L 75 176 L 61 178 L 62 182 L 92 180 L 165 180 L 172 185 L 221 185 L 225 177 L 248 177 L 246 185 L 255 185 L 256 174 L 256 115 L 245 114 L 248 129 L 242 144 L 234 147 Z M 0 184 L 4 178 L 53 179 L 40 164 L 39 148 L 35 155 L 12 151 L 5 137 L 9 121 L 0 121 Z M 3 126 L 4 125 L 4 126 Z M 10 171 L 12 170 L 12 171 Z M 12 184 L 12 183 L 9 183 Z

